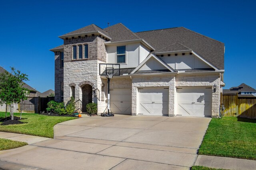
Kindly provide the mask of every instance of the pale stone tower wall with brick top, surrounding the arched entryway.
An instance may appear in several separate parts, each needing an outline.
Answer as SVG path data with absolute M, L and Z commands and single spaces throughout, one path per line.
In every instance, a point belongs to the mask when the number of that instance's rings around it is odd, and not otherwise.
M 99 76 L 99 63 L 106 62 L 106 47 L 102 38 L 98 36 L 80 37 L 64 40 L 64 103 L 72 96 L 71 86 L 75 87 L 76 109 L 82 109 L 82 89 L 84 84 L 95 88 L 92 93 L 92 102 L 98 104 L 98 113 L 105 109 L 105 101 L 100 95 L 102 81 Z M 88 44 L 88 59 L 72 60 L 73 45 Z M 99 50 L 100 49 L 100 50 Z M 104 109 L 103 109 L 104 108 Z M 102 110 L 103 109 L 103 110 Z

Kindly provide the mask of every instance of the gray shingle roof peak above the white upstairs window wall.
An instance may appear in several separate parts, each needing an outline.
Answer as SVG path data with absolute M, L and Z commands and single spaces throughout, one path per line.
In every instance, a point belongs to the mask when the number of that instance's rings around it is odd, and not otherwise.
M 136 35 L 122 23 L 117 23 L 110 27 L 106 27 L 104 30 L 107 31 L 109 36 L 112 38 L 111 42 L 141 39 L 138 35 Z

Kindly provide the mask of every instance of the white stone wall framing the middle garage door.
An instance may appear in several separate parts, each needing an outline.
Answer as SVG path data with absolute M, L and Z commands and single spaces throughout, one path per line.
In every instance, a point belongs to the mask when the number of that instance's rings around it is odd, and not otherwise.
M 169 87 L 169 116 L 174 116 L 175 76 L 132 76 L 132 115 L 137 115 L 139 87 Z

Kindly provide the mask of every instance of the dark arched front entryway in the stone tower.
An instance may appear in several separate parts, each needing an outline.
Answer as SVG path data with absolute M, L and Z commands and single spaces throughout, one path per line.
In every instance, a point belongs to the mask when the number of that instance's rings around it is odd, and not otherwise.
M 92 86 L 90 84 L 84 84 L 82 89 L 82 112 L 86 111 L 86 104 L 92 103 Z

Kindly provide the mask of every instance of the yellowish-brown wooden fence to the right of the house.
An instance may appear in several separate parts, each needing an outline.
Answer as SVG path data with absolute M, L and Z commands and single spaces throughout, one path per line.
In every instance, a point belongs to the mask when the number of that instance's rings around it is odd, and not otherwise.
M 237 94 L 223 94 L 222 103 L 226 107 L 223 116 L 256 119 L 256 97 L 241 98 Z

